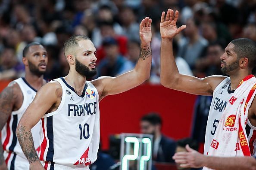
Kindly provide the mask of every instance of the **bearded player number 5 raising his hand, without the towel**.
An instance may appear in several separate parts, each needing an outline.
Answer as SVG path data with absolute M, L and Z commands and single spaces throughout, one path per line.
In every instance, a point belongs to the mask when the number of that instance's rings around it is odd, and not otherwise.
M 225 48 L 225 53 L 220 57 L 222 72 L 229 77 L 214 75 L 203 79 L 194 76 L 182 75 L 178 72 L 172 53 L 173 37 L 186 28 L 185 25 L 177 28 L 176 21 L 178 11 L 168 9 L 166 17 L 162 12 L 160 33 L 161 43 L 161 84 L 167 88 L 184 91 L 197 95 L 213 95 L 210 106 L 208 122 L 206 126 L 206 137 L 204 154 L 209 152 L 213 135 L 216 132 L 219 120 L 222 116 L 229 99 L 235 89 L 246 76 L 252 73 L 256 65 L 256 45 L 250 39 L 235 39 Z M 184 100 L 184 103 L 186 101 Z M 255 140 L 253 130 L 256 129 L 256 101 L 253 100 L 248 112 L 247 129 L 250 134 L 248 140 Z M 253 137 L 253 138 L 251 138 Z M 254 153 L 254 152 L 253 152 Z

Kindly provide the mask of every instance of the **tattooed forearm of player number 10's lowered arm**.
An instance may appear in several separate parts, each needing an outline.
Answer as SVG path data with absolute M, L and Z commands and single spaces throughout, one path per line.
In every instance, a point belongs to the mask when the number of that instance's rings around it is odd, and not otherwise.
M 39 161 L 37 152 L 34 149 L 34 141 L 31 131 L 28 130 L 25 126 L 21 126 L 17 131 L 17 137 L 22 151 L 28 159 L 28 162 L 32 163 Z

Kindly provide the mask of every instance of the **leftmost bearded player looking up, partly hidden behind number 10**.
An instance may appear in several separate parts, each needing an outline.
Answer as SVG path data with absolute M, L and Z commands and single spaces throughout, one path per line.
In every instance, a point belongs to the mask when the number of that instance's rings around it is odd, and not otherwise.
M 16 79 L 0 94 L 0 146 L 1 170 L 29 170 L 29 162 L 17 141 L 16 127 L 35 94 L 46 81 L 43 74 L 47 66 L 47 52 L 39 43 L 30 43 L 23 50 L 22 61 L 25 65 L 25 77 Z M 34 147 L 39 149 L 38 123 L 32 128 Z

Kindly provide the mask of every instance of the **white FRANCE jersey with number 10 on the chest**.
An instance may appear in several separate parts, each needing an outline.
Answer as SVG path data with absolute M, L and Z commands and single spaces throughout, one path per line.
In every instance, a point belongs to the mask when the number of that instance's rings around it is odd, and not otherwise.
M 46 169 L 54 164 L 88 166 L 96 161 L 100 143 L 97 89 L 86 81 L 79 96 L 65 79 L 53 81 L 60 83 L 62 99 L 56 111 L 41 119 L 40 160 Z

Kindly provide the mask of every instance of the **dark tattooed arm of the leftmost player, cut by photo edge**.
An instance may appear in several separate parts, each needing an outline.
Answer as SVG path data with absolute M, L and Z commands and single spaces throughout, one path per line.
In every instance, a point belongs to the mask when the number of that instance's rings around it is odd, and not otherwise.
M 20 91 L 19 85 L 15 82 L 11 82 L 5 89 L 3 89 L 0 94 L 0 131 L 6 124 L 12 111 L 15 109 L 19 109 L 22 101 L 22 92 Z M 0 170 L 7 170 L 3 157 L 3 145 L 2 142 L 0 143 Z

